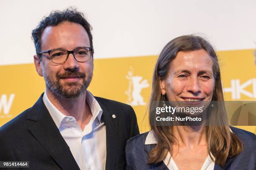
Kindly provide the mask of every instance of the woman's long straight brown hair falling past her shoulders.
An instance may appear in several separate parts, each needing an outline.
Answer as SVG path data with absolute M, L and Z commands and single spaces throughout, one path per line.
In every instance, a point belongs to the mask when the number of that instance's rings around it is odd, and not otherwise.
M 173 135 L 172 126 L 156 125 L 156 107 L 161 107 L 161 90 L 159 80 L 166 80 L 172 60 L 179 51 L 205 50 L 213 61 L 212 71 L 215 78 L 215 86 L 212 101 L 224 101 L 223 88 L 220 79 L 220 67 L 218 58 L 212 45 L 200 36 L 184 35 L 177 37 L 166 44 L 156 62 L 152 80 L 152 92 L 148 105 L 149 122 L 151 130 L 157 138 L 156 146 L 148 153 L 148 164 L 159 163 L 166 158 L 168 152 L 172 153 L 172 145 L 176 138 Z M 216 107 L 215 107 L 216 108 Z M 215 157 L 215 163 L 223 167 L 228 157 L 241 153 L 243 145 L 228 125 L 228 116 L 223 102 L 218 102 L 218 109 L 208 117 L 205 126 L 208 154 Z M 214 124 L 214 125 L 213 125 Z M 212 158 L 213 160 L 213 158 Z

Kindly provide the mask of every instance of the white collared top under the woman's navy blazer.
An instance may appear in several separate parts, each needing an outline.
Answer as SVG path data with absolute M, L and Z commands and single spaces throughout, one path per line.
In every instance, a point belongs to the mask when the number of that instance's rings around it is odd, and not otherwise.
M 157 144 L 157 139 L 154 135 L 153 130 L 149 131 L 146 141 L 145 141 L 145 145 L 150 145 L 150 144 Z M 212 158 L 214 158 L 213 155 L 212 155 Z M 172 159 L 172 156 L 169 152 L 167 153 L 166 158 L 164 159 L 164 164 L 167 166 L 167 168 L 169 170 L 179 170 L 179 168 L 175 164 L 175 162 Z M 210 155 L 208 155 L 207 158 L 205 159 L 204 164 L 202 165 L 201 170 L 213 170 L 214 165 L 215 165 L 214 161 L 212 161 L 210 158 Z

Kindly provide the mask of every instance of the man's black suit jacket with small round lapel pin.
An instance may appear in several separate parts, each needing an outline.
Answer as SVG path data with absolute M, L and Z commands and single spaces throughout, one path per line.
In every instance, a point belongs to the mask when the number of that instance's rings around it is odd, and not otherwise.
M 0 128 L 0 161 L 29 161 L 33 170 L 79 170 L 42 97 Z M 106 125 L 106 170 L 122 170 L 125 143 L 139 134 L 135 112 L 129 105 L 95 98 Z

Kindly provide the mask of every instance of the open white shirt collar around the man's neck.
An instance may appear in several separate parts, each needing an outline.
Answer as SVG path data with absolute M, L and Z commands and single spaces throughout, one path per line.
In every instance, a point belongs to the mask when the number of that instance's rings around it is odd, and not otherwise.
M 44 104 L 47 108 L 47 110 L 49 111 L 52 119 L 54 120 L 56 126 L 59 128 L 61 125 L 61 121 L 65 118 L 65 117 L 69 117 L 64 115 L 61 111 L 59 111 L 53 104 L 52 102 L 49 100 L 49 98 L 47 97 L 46 91 L 44 92 L 43 95 L 43 101 Z M 97 100 L 95 99 L 95 97 L 87 90 L 86 91 L 86 102 L 90 107 L 90 110 L 92 112 L 92 120 L 94 121 L 95 118 L 98 119 L 99 122 L 100 118 L 102 116 L 102 109 L 100 107 L 100 104 L 97 102 Z M 85 104 L 85 103 L 84 103 Z

